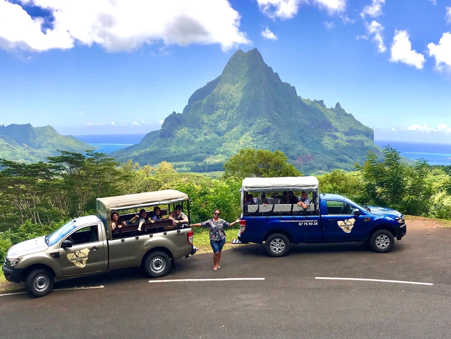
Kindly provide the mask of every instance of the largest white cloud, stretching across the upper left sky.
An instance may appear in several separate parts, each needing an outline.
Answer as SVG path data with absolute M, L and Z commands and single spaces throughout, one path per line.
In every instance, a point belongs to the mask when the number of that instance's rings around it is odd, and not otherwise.
M 108 51 L 143 44 L 218 44 L 229 50 L 250 43 L 240 15 L 227 0 L 18 0 L 46 9 L 53 27 L 19 4 L 0 0 L 0 48 L 44 51 L 98 44 Z

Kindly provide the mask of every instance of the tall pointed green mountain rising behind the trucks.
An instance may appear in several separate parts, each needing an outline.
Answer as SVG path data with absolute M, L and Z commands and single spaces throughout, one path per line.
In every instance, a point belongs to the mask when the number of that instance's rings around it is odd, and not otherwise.
M 160 130 L 111 156 L 140 164 L 182 162 L 191 170 L 217 162 L 214 170 L 219 170 L 239 149 L 253 147 L 281 150 L 298 169 L 312 173 L 352 170 L 368 151 L 381 155 L 373 139 L 373 130 L 338 102 L 327 108 L 322 100 L 298 96 L 257 49 L 237 50 L 219 77 L 193 93 L 181 114 L 173 112 Z

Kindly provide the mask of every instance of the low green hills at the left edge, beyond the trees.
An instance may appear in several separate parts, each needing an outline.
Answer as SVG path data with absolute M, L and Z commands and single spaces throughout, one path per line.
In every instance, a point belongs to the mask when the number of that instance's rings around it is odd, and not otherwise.
M 0 126 L 0 158 L 18 162 L 46 161 L 59 155 L 56 150 L 84 152 L 93 147 L 71 135 L 61 135 L 53 127 L 31 124 Z

